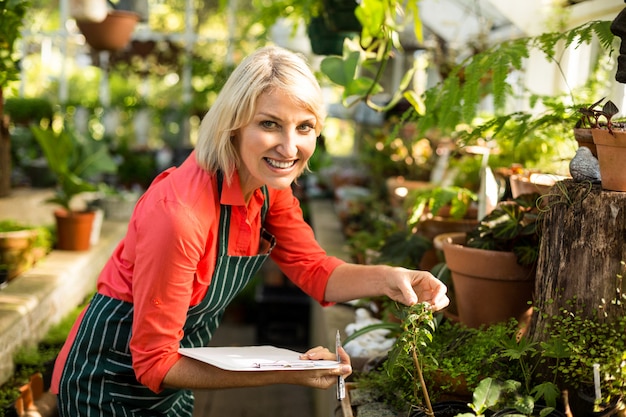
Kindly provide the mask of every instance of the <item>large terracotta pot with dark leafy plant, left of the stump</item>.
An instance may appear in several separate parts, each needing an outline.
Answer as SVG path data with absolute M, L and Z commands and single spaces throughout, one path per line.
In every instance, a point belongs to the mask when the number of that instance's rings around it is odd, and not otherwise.
M 468 232 L 440 235 L 459 320 L 471 327 L 528 324 L 540 244 L 538 194 L 503 201 Z

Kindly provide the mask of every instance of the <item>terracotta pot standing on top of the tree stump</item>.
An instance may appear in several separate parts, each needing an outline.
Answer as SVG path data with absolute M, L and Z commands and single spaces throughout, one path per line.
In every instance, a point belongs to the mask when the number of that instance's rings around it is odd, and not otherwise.
M 593 142 L 598 148 L 598 162 L 602 188 L 610 191 L 626 191 L 626 131 L 592 129 Z

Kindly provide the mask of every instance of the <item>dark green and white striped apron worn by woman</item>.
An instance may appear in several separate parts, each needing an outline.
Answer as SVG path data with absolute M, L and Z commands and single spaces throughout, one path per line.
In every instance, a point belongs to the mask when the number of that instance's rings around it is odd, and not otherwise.
M 218 193 L 221 195 L 221 176 Z M 265 219 L 269 195 L 263 187 Z M 274 236 L 262 230 L 266 250 L 255 256 L 229 256 L 231 207 L 220 207 L 218 257 L 207 294 L 190 307 L 181 347 L 208 345 L 224 310 L 248 284 L 274 247 Z M 129 351 L 133 305 L 101 294 L 91 301 L 61 376 L 58 405 L 61 417 L 135 416 L 191 417 L 191 390 L 154 393 L 135 378 Z

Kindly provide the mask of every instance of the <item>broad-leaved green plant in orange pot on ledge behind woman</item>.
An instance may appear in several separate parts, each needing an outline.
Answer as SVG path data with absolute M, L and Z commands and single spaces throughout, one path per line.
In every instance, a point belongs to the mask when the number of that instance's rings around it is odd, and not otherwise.
M 91 246 L 91 231 L 95 218 L 93 210 L 77 209 L 74 198 L 96 191 L 98 175 L 115 173 L 117 166 L 107 145 L 64 127 L 60 131 L 33 126 L 33 134 L 43 149 L 50 169 L 57 177 L 51 203 L 60 209 L 54 215 L 57 224 L 57 248 L 87 250 Z

